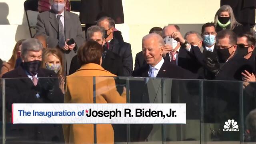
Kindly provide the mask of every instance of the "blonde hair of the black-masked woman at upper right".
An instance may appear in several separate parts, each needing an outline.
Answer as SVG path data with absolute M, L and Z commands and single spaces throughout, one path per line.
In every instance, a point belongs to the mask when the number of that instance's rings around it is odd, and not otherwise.
M 223 5 L 219 8 L 219 10 L 216 12 L 214 17 L 214 25 L 217 26 L 218 16 L 221 12 L 228 12 L 230 16 L 230 30 L 233 30 L 236 26 L 241 25 L 239 22 L 236 21 L 236 18 L 234 16 L 233 9 L 229 5 Z

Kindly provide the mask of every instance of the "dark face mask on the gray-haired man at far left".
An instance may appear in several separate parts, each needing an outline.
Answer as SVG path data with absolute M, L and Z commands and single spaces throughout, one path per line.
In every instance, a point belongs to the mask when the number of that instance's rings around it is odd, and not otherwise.
M 24 68 L 24 70 L 26 70 L 30 76 L 36 75 L 38 73 L 40 66 L 41 66 L 40 60 L 33 60 L 30 62 L 22 63 L 22 68 Z

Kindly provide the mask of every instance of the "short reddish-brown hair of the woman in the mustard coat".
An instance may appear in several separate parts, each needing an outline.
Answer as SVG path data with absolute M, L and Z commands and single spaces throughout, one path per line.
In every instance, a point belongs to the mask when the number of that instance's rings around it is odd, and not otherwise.
M 78 50 L 78 59 L 81 65 L 94 63 L 100 64 L 103 48 L 98 42 L 88 40 Z

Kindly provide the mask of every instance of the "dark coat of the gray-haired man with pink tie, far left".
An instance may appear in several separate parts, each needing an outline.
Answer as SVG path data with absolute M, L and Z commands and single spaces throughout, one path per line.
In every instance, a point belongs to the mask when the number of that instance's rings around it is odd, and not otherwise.
M 46 84 L 47 78 L 40 77 L 54 77 L 56 74 L 52 70 L 40 68 L 38 71 L 38 85 L 34 86 L 32 80 L 28 78 L 26 72 L 21 66 L 7 72 L 2 78 L 7 78 L 6 82 L 6 108 L 8 112 L 11 111 L 12 103 L 63 103 L 64 94 L 58 86 L 58 78 L 52 78 L 54 89 L 52 92 L 45 90 L 42 86 Z M 14 78 L 14 79 L 8 79 Z M 36 94 L 40 94 L 40 98 Z M 42 142 L 59 141 L 63 142 L 62 128 L 57 124 L 16 124 L 11 125 L 10 135 L 16 137 L 18 140 L 36 140 Z M 7 134 L 9 135 L 9 134 Z M 12 143 L 12 142 L 10 142 Z M 25 142 L 26 143 L 26 142 Z

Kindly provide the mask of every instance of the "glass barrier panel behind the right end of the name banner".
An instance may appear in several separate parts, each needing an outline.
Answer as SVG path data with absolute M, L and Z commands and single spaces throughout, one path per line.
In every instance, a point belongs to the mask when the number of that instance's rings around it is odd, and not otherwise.
M 186 124 L 165 124 L 166 142 L 200 144 L 200 81 L 164 80 L 163 103 L 185 103 Z

